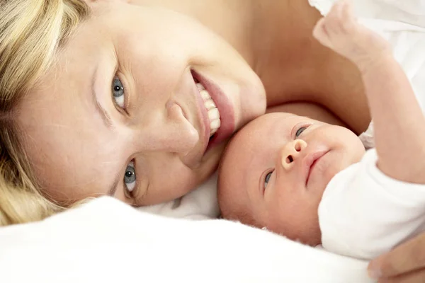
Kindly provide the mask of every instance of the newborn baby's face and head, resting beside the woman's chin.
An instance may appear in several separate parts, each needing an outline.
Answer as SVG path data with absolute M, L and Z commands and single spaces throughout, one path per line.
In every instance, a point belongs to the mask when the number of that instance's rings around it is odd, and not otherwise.
M 263 115 L 228 146 L 220 190 L 255 222 L 303 243 L 320 243 L 317 209 L 332 177 L 361 160 L 350 130 L 288 113 Z

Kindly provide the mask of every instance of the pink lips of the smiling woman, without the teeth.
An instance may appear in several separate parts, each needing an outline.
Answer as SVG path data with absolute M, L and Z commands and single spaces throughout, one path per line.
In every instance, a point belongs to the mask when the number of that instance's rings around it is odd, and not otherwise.
M 203 115 L 203 121 L 205 123 L 205 151 L 212 148 L 216 144 L 220 144 L 225 139 L 228 139 L 234 132 L 235 121 L 234 121 L 234 109 L 232 103 L 230 103 L 225 93 L 222 89 L 217 86 L 215 83 L 205 78 L 205 76 L 199 74 L 195 70 L 192 71 L 192 76 L 194 79 L 198 80 L 205 88 L 206 91 L 210 94 L 212 100 L 214 100 L 215 105 L 217 106 L 218 111 L 220 112 L 220 129 L 214 134 L 210 140 L 210 120 L 208 119 L 208 112 L 205 109 L 202 98 L 199 98 L 198 105 L 202 108 L 201 112 Z

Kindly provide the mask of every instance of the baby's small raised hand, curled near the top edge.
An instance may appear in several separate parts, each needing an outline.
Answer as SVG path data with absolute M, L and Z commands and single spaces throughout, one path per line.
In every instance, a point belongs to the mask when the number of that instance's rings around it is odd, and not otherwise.
M 322 45 L 350 59 L 360 69 L 379 61 L 390 51 L 385 39 L 356 21 L 346 0 L 336 2 L 327 16 L 317 22 L 313 35 Z

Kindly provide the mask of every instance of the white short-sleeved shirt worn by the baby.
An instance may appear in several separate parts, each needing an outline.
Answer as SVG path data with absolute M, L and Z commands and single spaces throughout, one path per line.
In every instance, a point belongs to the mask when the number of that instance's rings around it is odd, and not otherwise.
M 425 230 L 425 185 L 387 177 L 377 160 L 371 149 L 327 185 L 318 211 L 325 249 L 372 259 Z

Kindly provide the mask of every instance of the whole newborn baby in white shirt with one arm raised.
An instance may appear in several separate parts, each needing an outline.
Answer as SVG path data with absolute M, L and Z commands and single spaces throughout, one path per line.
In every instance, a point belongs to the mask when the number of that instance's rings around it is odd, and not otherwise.
M 390 45 L 336 3 L 313 31 L 361 71 L 375 149 L 344 127 L 288 113 L 250 122 L 220 164 L 222 216 L 356 258 L 425 230 L 425 117 Z

